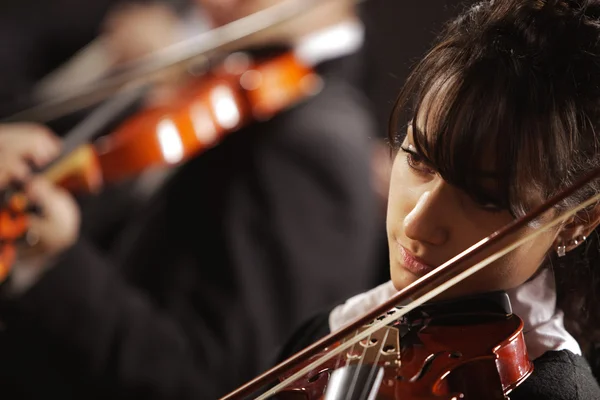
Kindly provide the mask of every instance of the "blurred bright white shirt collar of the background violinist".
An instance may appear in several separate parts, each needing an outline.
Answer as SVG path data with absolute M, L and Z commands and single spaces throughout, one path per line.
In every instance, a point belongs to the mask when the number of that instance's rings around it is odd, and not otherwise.
M 307 65 L 355 53 L 365 41 L 360 21 L 348 20 L 304 36 L 295 46 L 296 57 Z

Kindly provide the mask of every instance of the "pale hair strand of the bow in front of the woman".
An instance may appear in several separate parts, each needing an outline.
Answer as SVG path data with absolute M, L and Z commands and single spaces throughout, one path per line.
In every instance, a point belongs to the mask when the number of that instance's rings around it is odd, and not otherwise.
M 542 233 L 546 232 L 548 229 L 564 222 L 571 216 L 573 216 L 576 213 L 578 213 L 579 211 L 593 205 L 594 203 L 598 203 L 598 201 L 600 201 L 600 193 L 590 197 L 588 200 L 580 203 L 578 206 L 576 206 L 576 207 L 566 211 L 562 215 L 554 218 L 552 221 L 550 221 L 548 224 L 544 225 L 543 227 L 536 229 L 535 231 L 523 236 L 519 240 L 516 240 L 513 243 L 507 245 L 502 250 L 490 255 L 489 257 L 483 259 L 482 261 L 480 261 L 480 262 L 472 265 L 471 267 L 465 269 L 464 271 L 460 272 L 456 276 L 446 280 L 445 282 L 441 283 L 440 285 L 433 288 L 429 292 L 421 295 L 420 297 L 417 297 L 412 302 L 406 304 L 403 308 L 398 309 L 397 312 L 383 317 L 379 322 L 374 322 L 373 325 L 369 326 L 367 329 L 362 331 L 360 334 L 358 334 L 358 335 L 354 336 L 352 339 L 349 339 L 348 341 L 340 344 L 338 347 L 333 349 L 331 352 L 321 356 L 321 358 L 319 358 L 318 360 L 315 360 L 315 361 L 307 364 L 302 369 L 298 370 L 293 375 L 289 376 L 287 379 L 285 379 L 282 382 L 280 382 L 279 384 L 273 386 L 268 391 L 263 393 L 261 396 L 257 397 L 257 400 L 267 399 L 270 396 L 277 394 L 279 391 L 281 391 L 282 389 L 285 389 L 287 386 L 289 386 L 292 382 L 295 382 L 297 379 L 305 376 L 310 371 L 319 367 L 324 362 L 326 362 L 327 360 L 330 360 L 331 358 L 340 354 L 344 350 L 348 349 L 350 346 L 352 346 L 356 342 L 364 339 L 367 336 L 370 336 L 371 334 L 373 334 L 373 332 L 376 332 L 377 330 L 383 328 L 384 326 L 399 320 L 401 317 L 403 317 L 410 311 L 423 305 L 427 301 L 433 299 L 434 297 L 436 297 L 439 294 L 441 294 L 442 292 L 448 290 L 449 288 L 451 288 L 452 286 L 461 282 L 462 280 L 468 278 L 469 276 L 473 275 L 474 273 L 478 272 L 479 270 L 483 269 L 484 267 L 488 266 L 489 264 L 491 264 L 494 261 L 498 260 L 499 258 L 503 257 L 504 255 L 510 253 L 517 247 L 523 245 L 524 243 L 529 242 L 530 240 L 535 239 Z M 480 242 L 486 242 L 489 240 L 490 240 L 489 237 L 487 237 L 485 239 L 482 239 Z

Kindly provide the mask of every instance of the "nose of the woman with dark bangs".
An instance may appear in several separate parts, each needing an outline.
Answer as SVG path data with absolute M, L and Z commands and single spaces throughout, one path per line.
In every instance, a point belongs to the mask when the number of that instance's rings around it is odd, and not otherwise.
M 448 240 L 449 201 L 443 195 L 443 184 L 424 191 L 414 208 L 404 218 L 404 234 L 412 240 L 440 246 Z

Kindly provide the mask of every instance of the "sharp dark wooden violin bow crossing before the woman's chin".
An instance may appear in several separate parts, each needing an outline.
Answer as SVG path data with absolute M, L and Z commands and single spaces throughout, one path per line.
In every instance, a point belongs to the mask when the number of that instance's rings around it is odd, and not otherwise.
M 481 254 L 482 252 L 488 250 L 490 247 L 498 244 L 501 240 L 505 239 L 509 235 L 517 233 L 518 231 L 520 231 L 521 229 L 526 227 L 527 224 L 533 222 L 538 217 L 543 215 L 545 212 L 549 211 L 552 207 L 554 207 L 561 201 L 567 199 L 569 196 L 573 195 L 575 192 L 580 190 L 586 184 L 588 184 L 589 182 L 591 182 L 592 180 L 597 179 L 597 178 L 600 178 L 600 167 L 592 170 L 587 175 L 580 178 L 572 186 L 570 186 L 570 187 L 564 189 L 562 192 L 556 194 L 555 196 L 550 198 L 548 201 L 546 201 L 544 204 L 535 208 L 533 211 L 522 216 L 521 218 L 514 220 L 513 222 L 509 223 L 508 225 L 501 228 L 500 230 L 498 230 L 498 231 L 492 233 L 491 235 L 489 235 L 488 237 L 480 240 L 479 242 L 477 242 L 473 246 L 469 247 L 462 253 L 460 253 L 457 256 L 453 257 L 452 259 L 446 261 L 444 264 L 440 265 L 438 268 L 434 269 L 427 275 L 421 277 L 420 279 L 418 279 L 417 281 L 408 285 L 404 289 L 398 291 L 396 294 L 394 294 L 389 300 L 387 300 L 383 304 L 381 304 L 377 307 L 374 307 L 372 310 L 368 311 L 367 313 L 363 314 L 362 316 L 355 318 L 353 321 L 351 321 L 350 323 L 345 325 L 343 328 L 341 328 L 335 332 L 332 332 L 329 335 L 321 338 L 317 342 L 313 343 L 312 345 L 306 347 L 305 349 L 296 353 L 295 355 L 288 358 L 287 360 L 285 360 L 285 361 L 281 362 L 280 364 L 276 365 L 275 367 L 271 368 L 264 374 L 258 376 L 257 378 L 251 380 L 250 382 L 246 383 L 245 385 L 239 387 L 235 391 L 222 397 L 221 400 L 241 399 L 241 398 L 243 398 L 243 396 L 247 396 L 251 393 L 256 392 L 263 386 L 276 381 L 276 379 L 279 376 L 283 375 L 285 372 L 288 372 L 289 370 L 296 367 L 300 363 L 308 360 L 310 357 L 316 355 L 317 353 L 319 353 L 326 347 L 331 346 L 331 345 L 335 344 L 336 342 L 339 342 L 342 339 L 345 339 L 349 334 L 354 333 L 354 332 L 358 331 L 359 328 L 365 326 L 366 324 L 373 322 L 376 318 L 387 313 L 389 310 L 391 310 L 398 304 L 403 304 L 404 302 L 409 301 L 411 298 L 413 299 L 410 303 L 403 305 L 401 309 L 397 310 L 396 312 L 394 312 L 390 315 L 386 315 L 384 318 L 373 323 L 367 329 L 356 334 L 351 339 L 344 341 L 344 343 L 342 343 L 338 347 L 332 349 L 327 354 L 321 356 L 319 359 L 311 362 L 310 364 L 306 365 L 305 367 L 298 370 L 294 374 L 290 375 L 283 382 L 273 386 L 271 389 L 269 389 L 268 391 L 263 393 L 261 396 L 257 397 L 257 399 L 258 400 L 267 399 L 269 396 L 278 393 L 281 389 L 284 389 L 292 382 L 298 380 L 299 378 L 302 378 L 307 373 L 309 373 L 313 369 L 317 368 L 318 366 L 322 365 L 327 360 L 335 357 L 336 355 L 345 351 L 346 349 L 348 349 L 349 347 L 358 343 L 359 341 L 364 340 L 369 335 L 371 335 L 373 332 L 376 332 L 376 331 L 380 330 L 381 328 L 383 328 L 384 326 L 399 320 L 402 316 L 404 316 L 408 312 L 423 305 L 427 301 L 433 299 L 434 297 L 438 296 L 440 293 L 444 292 L 445 290 L 449 289 L 450 287 L 461 282 L 463 279 L 466 279 L 469 276 L 476 273 L 477 271 L 483 269 L 484 267 L 486 267 L 487 265 L 496 261 L 497 259 L 504 256 L 505 254 L 513 251 L 514 249 L 521 246 L 522 244 L 536 238 L 538 235 L 542 234 L 546 230 L 564 222 L 568 218 L 575 215 L 577 212 L 579 212 L 595 203 L 598 203 L 600 201 L 600 194 L 590 197 L 586 201 L 580 203 L 579 205 L 571 208 L 570 210 L 567 210 L 560 216 L 554 218 L 552 221 L 548 222 L 547 224 L 537 228 L 530 234 L 525 235 L 521 238 L 518 238 L 518 239 L 512 241 L 511 243 L 509 243 L 508 245 L 503 247 L 501 250 L 486 257 L 484 260 L 477 262 L 474 265 L 469 266 L 468 268 L 465 268 L 465 263 L 468 263 L 470 260 L 473 259 L 473 257 Z M 462 270 L 461 270 L 461 267 L 462 267 Z M 432 289 L 428 290 L 428 288 L 432 288 Z

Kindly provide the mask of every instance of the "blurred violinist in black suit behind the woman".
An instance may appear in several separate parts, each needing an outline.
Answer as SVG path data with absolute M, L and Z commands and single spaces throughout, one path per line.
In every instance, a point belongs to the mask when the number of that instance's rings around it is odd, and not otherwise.
M 217 26 L 276 1 L 200 3 Z M 215 398 L 266 367 L 301 321 L 375 284 L 363 41 L 354 5 L 334 0 L 247 49 L 293 51 L 321 91 L 175 170 L 110 257 L 77 234 L 68 193 L 26 179 L 41 214 L 0 289 L 3 395 Z M 3 182 L 59 150 L 46 128 L 2 126 Z

